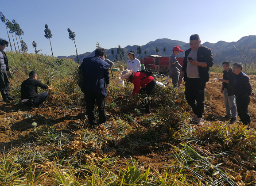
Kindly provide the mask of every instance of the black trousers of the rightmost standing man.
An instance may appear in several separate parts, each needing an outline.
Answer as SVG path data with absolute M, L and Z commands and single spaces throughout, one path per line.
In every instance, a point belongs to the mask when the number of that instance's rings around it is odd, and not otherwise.
M 236 103 L 237 103 L 237 113 L 240 118 L 240 121 L 242 121 L 244 125 L 250 125 L 251 116 L 248 108 L 248 105 L 250 103 L 250 96 L 249 95 L 236 96 Z

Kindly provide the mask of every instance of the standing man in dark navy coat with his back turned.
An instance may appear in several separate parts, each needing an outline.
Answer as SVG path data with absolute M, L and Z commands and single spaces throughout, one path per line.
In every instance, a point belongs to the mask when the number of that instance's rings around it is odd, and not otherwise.
M 105 49 L 99 47 L 93 57 L 84 58 L 79 70 L 83 72 L 81 91 L 85 95 L 86 114 L 89 123 L 94 128 L 97 126 L 95 118 L 95 102 L 99 111 L 99 124 L 107 121 L 105 111 L 105 97 L 107 85 L 110 82 L 109 64 L 105 62 Z

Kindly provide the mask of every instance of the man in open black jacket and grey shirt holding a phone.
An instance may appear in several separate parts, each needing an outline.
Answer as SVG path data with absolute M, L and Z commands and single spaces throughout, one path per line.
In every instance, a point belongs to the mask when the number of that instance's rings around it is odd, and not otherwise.
M 178 84 L 182 85 L 182 78 L 184 77 L 186 101 L 194 112 L 191 120 L 203 125 L 205 89 L 206 82 L 210 78 L 209 68 L 213 66 L 213 54 L 211 49 L 201 46 L 200 43 L 198 34 L 190 36 L 190 49 L 185 51 Z

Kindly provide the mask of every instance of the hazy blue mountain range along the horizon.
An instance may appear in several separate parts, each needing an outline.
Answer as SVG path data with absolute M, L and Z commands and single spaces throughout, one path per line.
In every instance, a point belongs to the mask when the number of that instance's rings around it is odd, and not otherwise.
M 256 50 L 256 35 L 244 36 L 240 38 L 237 42 L 225 42 L 225 41 L 218 41 L 217 43 L 205 42 L 202 45 L 212 50 L 213 60 L 215 64 L 222 63 L 223 61 L 243 62 L 243 58 L 239 50 L 237 49 L 243 49 L 244 46 L 246 46 L 245 48 L 250 47 L 250 49 Z M 144 46 L 140 46 L 142 49 L 141 58 L 144 58 L 148 55 L 156 55 L 156 54 L 162 57 L 169 57 L 172 54 L 173 47 L 175 46 L 179 46 L 180 49 L 184 51 L 190 48 L 189 43 L 186 43 L 186 42 L 171 40 L 168 38 L 157 39 L 155 41 L 148 42 Z M 158 53 L 155 52 L 156 47 L 159 49 Z M 166 49 L 165 53 L 163 52 L 163 48 Z M 114 49 L 114 56 L 111 54 L 112 49 Z M 109 60 L 114 61 L 114 57 L 118 55 L 116 49 L 117 47 L 106 49 L 107 58 Z M 133 45 L 133 46 L 128 45 L 122 49 L 124 49 L 124 52 L 125 52 L 124 61 L 128 60 L 127 53 L 130 50 L 134 50 L 136 53 L 136 58 L 140 58 L 140 54 L 137 53 L 137 45 Z M 147 51 L 146 55 L 144 53 L 145 50 Z M 80 54 L 78 55 L 78 57 L 80 62 L 82 62 L 83 58 L 92 57 L 93 55 L 94 55 L 94 51 Z M 184 52 L 179 53 L 178 57 L 184 57 Z M 67 57 L 58 56 L 58 58 L 71 58 L 77 61 L 76 55 L 67 56 Z M 118 59 L 119 59 L 119 55 L 118 55 Z

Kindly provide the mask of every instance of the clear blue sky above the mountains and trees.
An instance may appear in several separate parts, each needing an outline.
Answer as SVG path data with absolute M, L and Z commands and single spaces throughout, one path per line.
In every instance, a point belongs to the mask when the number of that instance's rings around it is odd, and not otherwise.
M 57 57 L 76 54 L 67 28 L 76 34 L 78 54 L 92 52 L 95 42 L 110 49 L 158 38 L 189 42 L 191 34 L 199 34 L 202 43 L 236 42 L 256 35 L 255 7 L 256 0 L 1 0 L 0 11 L 22 28 L 28 53 L 35 53 L 35 41 L 40 53 L 51 55 L 47 24 Z M 2 22 L 0 38 L 8 40 Z

